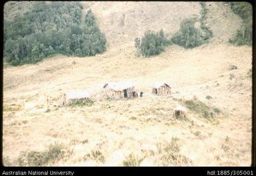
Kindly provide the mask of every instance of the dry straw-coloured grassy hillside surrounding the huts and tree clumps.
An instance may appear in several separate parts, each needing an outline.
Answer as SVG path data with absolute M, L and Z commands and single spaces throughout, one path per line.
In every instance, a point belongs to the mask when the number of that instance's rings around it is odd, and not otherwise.
M 192 49 L 173 44 L 144 58 L 136 56 L 134 38 L 147 30 L 176 33 L 183 19 L 200 16 L 199 3 L 81 3 L 105 33 L 106 52 L 5 66 L 4 165 L 251 164 L 252 48 L 228 43 L 241 24 L 230 7 L 207 3 L 209 43 Z M 144 96 L 100 98 L 106 82 L 122 80 Z M 158 81 L 172 87 L 171 96 L 151 94 Z M 88 90 L 92 101 L 61 106 L 70 90 Z M 185 120 L 173 117 L 179 105 L 188 110 Z

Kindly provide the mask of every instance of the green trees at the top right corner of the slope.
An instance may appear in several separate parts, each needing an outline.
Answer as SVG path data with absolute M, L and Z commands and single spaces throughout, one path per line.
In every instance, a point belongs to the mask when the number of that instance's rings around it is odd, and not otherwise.
M 243 23 L 234 37 L 229 39 L 230 43 L 235 45 L 248 44 L 251 45 L 253 41 L 253 9 L 252 5 L 247 2 L 228 2 L 233 13 L 239 15 L 243 19 Z

